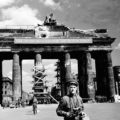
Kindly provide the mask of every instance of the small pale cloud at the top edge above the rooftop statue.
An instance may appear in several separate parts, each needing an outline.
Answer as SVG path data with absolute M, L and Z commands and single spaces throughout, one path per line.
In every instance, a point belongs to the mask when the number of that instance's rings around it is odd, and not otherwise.
M 40 0 L 40 2 L 53 10 L 62 10 L 60 0 Z

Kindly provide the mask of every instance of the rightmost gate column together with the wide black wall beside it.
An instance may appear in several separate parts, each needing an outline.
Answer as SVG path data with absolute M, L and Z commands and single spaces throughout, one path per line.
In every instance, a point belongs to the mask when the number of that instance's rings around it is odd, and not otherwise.
M 115 95 L 115 81 L 111 52 L 102 51 L 96 55 L 97 95 L 111 99 Z

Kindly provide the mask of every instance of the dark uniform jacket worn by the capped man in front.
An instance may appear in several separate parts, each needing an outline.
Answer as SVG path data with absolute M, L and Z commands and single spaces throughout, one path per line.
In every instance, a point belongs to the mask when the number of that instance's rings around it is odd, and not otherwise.
M 82 98 L 79 95 L 66 95 L 64 96 L 59 105 L 56 109 L 58 116 L 63 116 L 64 120 L 80 120 L 80 116 L 76 115 L 73 117 L 67 116 L 67 112 L 73 113 L 73 108 L 81 108 L 81 111 L 83 111 L 84 106 L 82 102 Z

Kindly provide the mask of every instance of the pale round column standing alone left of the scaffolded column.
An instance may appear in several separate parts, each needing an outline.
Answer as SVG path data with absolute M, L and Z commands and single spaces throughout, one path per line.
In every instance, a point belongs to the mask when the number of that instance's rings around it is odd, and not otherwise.
M 13 55 L 13 100 L 21 97 L 21 71 L 18 53 Z

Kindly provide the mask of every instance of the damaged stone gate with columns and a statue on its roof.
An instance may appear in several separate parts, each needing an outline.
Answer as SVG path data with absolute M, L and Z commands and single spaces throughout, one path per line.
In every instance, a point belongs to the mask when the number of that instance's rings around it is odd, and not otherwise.
M 79 94 L 92 99 L 96 95 L 111 99 L 115 95 L 111 44 L 115 38 L 106 29 L 79 30 L 45 21 L 35 28 L 0 29 L 0 78 L 2 61 L 13 60 L 13 100 L 22 96 L 22 60 L 59 59 L 61 93 L 67 93 L 66 82 L 72 78 L 70 59 L 78 61 Z M 97 91 L 94 92 L 92 59 L 95 60 Z M 0 85 L 1 85 L 0 84 Z M 2 85 L 1 85 L 2 87 Z M 0 87 L 0 88 L 1 88 Z M 0 93 L 2 97 L 2 91 Z

